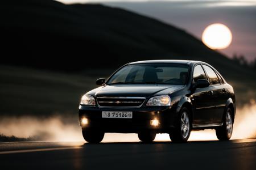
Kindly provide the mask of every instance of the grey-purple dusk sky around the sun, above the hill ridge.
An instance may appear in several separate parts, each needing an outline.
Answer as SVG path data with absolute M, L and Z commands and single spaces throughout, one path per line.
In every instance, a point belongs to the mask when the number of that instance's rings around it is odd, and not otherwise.
M 72 0 L 59 0 L 69 1 Z M 79 2 L 97 2 L 78 0 Z M 100 0 L 99 0 L 100 1 Z M 111 0 L 110 0 L 111 1 Z M 249 61 L 256 58 L 256 1 L 121 1 L 105 5 L 122 7 L 127 10 L 160 19 L 180 27 L 201 39 L 204 28 L 212 23 L 227 25 L 233 34 L 232 44 L 220 50 L 232 57 L 243 55 Z

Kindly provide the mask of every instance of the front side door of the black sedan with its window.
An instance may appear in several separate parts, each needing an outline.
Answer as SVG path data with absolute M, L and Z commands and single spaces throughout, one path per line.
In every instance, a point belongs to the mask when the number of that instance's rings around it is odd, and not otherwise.
M 193 83 L 196 83 L 198 79 L 208 79 L 201 65 L 196 65 L 193 70 Z M 214 104 L 211 88 L 196 88 L 191 96 L 192 104 L 195 107 L 193 116 L 193 126 L 195 127 L 213 123 Z

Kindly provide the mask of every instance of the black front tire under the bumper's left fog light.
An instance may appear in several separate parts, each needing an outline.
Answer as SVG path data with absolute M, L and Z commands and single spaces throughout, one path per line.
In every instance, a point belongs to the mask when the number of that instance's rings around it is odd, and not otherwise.
M 82 137 L 89 143 L 100 143 L 104 138 L 104 132 L 96 130 L 82 130 Z

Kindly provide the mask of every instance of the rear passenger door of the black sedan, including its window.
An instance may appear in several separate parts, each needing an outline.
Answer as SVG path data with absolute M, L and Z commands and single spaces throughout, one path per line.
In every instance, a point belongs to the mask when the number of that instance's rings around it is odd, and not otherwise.
M 219 124 L 222 122 L 222 115 L 224 112 L 225 104 L 223 100 L 224 87 L 217 76 L 217 73 L 209 66 L 203 65 L 205 73 L 207 74 L 210 82 L 209 91 L 212 91 L 211 100 L 214 106 L 212 114 L 212 123 Z

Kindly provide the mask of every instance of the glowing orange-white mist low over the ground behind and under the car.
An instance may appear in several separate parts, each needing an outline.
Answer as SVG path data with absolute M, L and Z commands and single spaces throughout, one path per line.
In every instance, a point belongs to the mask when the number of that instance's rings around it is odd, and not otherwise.
M 65 122 L 68 119 L 69 122 Z M 256 104 L 237 108 L 232 139 L 256 137 Z M 77 117 L 61 114 L 39 118 L 33 116 L 0 117 L 0 134 L 38 141 L 84 141 Z M 214 130 L 192 131 L 189 141 L 217 140 Z M 168 134 L 158 134 L 155 141 L 170 141 Z M 105 134 L 103 142 L 139 142 L 137 134 Z

